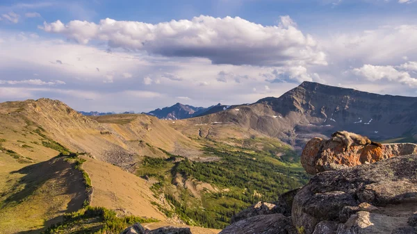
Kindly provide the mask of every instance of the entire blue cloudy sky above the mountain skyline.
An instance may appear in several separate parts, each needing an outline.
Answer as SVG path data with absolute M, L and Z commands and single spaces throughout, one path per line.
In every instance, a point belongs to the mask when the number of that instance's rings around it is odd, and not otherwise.
M 0 1 L 0 102 L 142 112 L 303 81 L 416 97 L 417 1 Z

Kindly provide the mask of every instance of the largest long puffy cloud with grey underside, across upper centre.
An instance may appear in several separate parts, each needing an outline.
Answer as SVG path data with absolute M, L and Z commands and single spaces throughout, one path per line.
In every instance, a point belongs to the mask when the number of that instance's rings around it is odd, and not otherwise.
M 142 50 L 168 57 L 208 58 L 214 64 L 277 66 L 327 65 L 326 55 L 311 35 L 281 17 L 278 26 L 263 26 L 240 17 L 194 17 L 146 24 L 101 19 L 99 24 L 74 20 L 44 22 L 40 28 L 81 44 L 90 40 L 109 47 Z

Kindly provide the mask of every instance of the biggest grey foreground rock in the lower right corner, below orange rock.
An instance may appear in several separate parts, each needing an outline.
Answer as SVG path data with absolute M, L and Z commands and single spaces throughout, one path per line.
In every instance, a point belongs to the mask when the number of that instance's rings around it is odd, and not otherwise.
M 417 156 L 410 155 L 313 176 L 291 218 L 304 234 L 391 234 L 414 230 L 416 211 Z

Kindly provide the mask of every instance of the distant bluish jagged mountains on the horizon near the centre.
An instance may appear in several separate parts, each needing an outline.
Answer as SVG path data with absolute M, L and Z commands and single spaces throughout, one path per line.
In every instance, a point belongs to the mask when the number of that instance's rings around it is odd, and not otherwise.
M 208 115 L 211 113 L 219 112 L 221 110 L 226 110 L 228 106 L 224 106 L 220 103 L 218 103 L 215 106 L 210 106 L 208 108 L 204 107 L 195 107 L 195 106 L 189 106 L 184 105 L 181 103 L 177 103 L 174 106 L 165 107 L 165 108 L 158 108 L 156 110 L 152 110 L 150 112 L 144 112 L 143 114 L 146 115 L 153 115 L 155 117 L 158 117 L 158 119 L 188 119 L 192 117 L 197 117 L 201 115 Z

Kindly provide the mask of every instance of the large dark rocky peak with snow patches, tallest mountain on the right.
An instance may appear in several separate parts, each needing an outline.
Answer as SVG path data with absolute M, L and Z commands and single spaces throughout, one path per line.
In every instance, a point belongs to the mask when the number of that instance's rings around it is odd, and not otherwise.
M 338 130 L 375 140 L 417 139 L 417 98 L 372 94 L 343 87 L 304 82 L 281 97 L 184 121 L 188 124 L 234 124 L 277 137 L 301 149 L 311 137 Z

